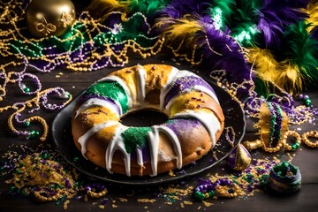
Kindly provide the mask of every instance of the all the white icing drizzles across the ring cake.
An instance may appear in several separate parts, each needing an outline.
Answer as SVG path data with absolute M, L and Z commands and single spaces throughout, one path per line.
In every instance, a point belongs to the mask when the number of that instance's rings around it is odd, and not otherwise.
M 143 107 L 145 107 L 144 100 L 146 98 L 147 72 L 144 69 L 144 67 L 140 64 L 137 65 L 137 75 L 138 75 L 137 95 L 134 95 L 134 93 L 133 93 L 133 96 L 132 96 L 132 92 L 130 91 L 129 87 L 127 86 L 125 80 L 121 79 L 117 76 L 114 76 L 114 75 L 107 76 L 105 78 L 98 80 L 98 82 L 116 81 L 118 84 L 120 84 L 121 87 L 124 88 L 125 94 L 127 95 L 129 109 L 133 110 L 132 105 L 134 102 L 137 102 L 137 101 Z M 189 76 L 196 76 L 196 74 L 194 74 L 193 72 L 186 71 L 186 70 L 179 71 L 175 67 L 171 68 L 167 82 L 162 87 L 162 89 L 160 91 L 160 109 L 161 110 L 163 110 L 164 98 L 168 94 L 168 92 L 170 91 L 170 88 L 173 86 L 173 83 L 179 78 L 189 77 Z M 198 90 L 198 91 L 204 92 L 207 95 L 211 96 L 216 102 L 218 102 L 216 95 L 212 91 L 210 91 L 206 87 L 199 86 L 199 85 L 193 85 L 193 87 L 189 87 L 188 89 L 184 90 L 182 92 L 182 94 L 184 94 L 186 92 L 190 92 L 192 90 Z M 167 104 L 167 108 L 169 110 L 170 110 L 170 106 L 171 106 L 174 99 L 175 99 L 175 97 L 173 97 L 170 100 L 170 102 L 168 102 L 168 104 Z M 122 107 L 121 107 L 119 102 L 117 102 L 117 101 L 114 101 L 114 102 L 116 102 L 116 105 L 118 106 L 118 108 L 120 110 L 119 114 L 116 112 L 117 117 L 121 117 L 122 116 Z M 75 117 L 77 117 L 80 114 L 80 112 L 82 112 L 83 110 L 86 110 L 87 108 L 94 107 L 94 106 L 102 106 L 102 107 L 108 108 L 112 111 L 117 111 L 117 109 L 114 107 L 114 105 L 111 104 L 110 102 L 107 102 L 105 100 L 98 99 L 98 98 L 92 98 L 92 99 L 87 100 L 87 102 L 84 102 L 79 107 L 79 109 L 76 111 Z M 204 125 L 205 128 L 207 129 L 208 134 L 209 134 L 210 139 L 211 139 L 211 142 L 212 142 L 212 146 L 213 146 L 213 148 L 215 147 L 215 145 L 216 145 L 216 132 L 221 129 L 221 125 L 220 125 L 217 117 L 213 113 L 209 114 L 209 113 L 205 113 L 205 112 L 201 112 L 201 111 L 186 110 L 185 112 L 175 114 L 173 117 L 193 117 L 193 118 L 199 120 L 201 122 L 201 124 Z M 104 122 L 104 123 L 99 124 L 99 125 L 95 125 L 91 129 L 89 129 L 87 131 L 87 133 L 80 136 L 78 142 L 81 145 L 81 153 L 87 159 L 87 157 L 85 156 L 85 154 L 87 152 L 87 147 L 86 147 L 87 140 L 89 140 L 89 138 L 93 134 L 101 131 L 103 128 L 110 127 L 113 125 L 118 125 L 118 126 L 116 128 L 116 132 L 114 133 L 114 135 L 113 135 L 112 139 L 110 140 L 108 147 L 106 148 L 106 151 L 105 151 L 106 169 L 110 173 L 112 173 L 111 167 L 112 167 L 112 162 L 113 162 L 113 155 L 115 154 L 115 152 L 117 150 L 120 150 L 124 155 L 126 175 L 131 176 L 131 154 L 126 152 L 125 142 L 121 136 L 121 134 L 123 132 L 125 132 L 125 130 L 128 127 L 125 125 L 121 125 L 117 121 L 108 121 L 108 122 Z M 175 155 L 173 155 L 173 156 L 164 155 L 164 152 L 159 149 L 159 133 L 160 132 L 165 133 L 169 137 L 170 141 L 173 144 L 173 149 L 174 149 Z M 149 153 L 150 153 L 150 157 L 151 157 L 151 168 L 152 168 L 152 175 L 151 176 L 157 175 L 158 157 L 159 157 L 159 160 L 165 161 L 165 162 L 172 161 L 172 160 L 176 159 L 177 160 L 177 167 L 178 167 L 178 169 L 181 169 L 181 167 L 182 167 L 181 145 L 179 143 L 178 136 L 169 127 L 164 126 L 164 125 L 152 126 L 152 131 L 148 132 L 148 143 L 149 143 Z M 143 161 L 142 149 L 136 148 L 136 154 L 137 154 L 137 163 L 140 166 L 143 166 L 144 161 Z

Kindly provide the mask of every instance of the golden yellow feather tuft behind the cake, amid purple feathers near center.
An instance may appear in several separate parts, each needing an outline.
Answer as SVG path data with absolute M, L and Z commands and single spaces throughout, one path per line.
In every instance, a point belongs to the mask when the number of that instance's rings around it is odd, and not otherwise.
M 178 42 L 185 42 L 186 48 L 193 47 L 198 36 L 196 33 L 203 31 L 203 27 L 198 21 L 193 19 L 172 19 L 162 18 L 155 24 L 155 27 L 168 27 L 164 28 L 163 36 L 168 43 L 178 44 Z

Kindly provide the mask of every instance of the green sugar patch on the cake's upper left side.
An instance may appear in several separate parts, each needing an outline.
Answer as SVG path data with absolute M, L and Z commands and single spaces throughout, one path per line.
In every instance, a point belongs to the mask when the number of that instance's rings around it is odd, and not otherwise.
M 108 97 L 120 103 L 123 113 L 128 110 L 128 97 L 124 88 L 116 81 L 98 82 L 87 88 L 88 94 Z

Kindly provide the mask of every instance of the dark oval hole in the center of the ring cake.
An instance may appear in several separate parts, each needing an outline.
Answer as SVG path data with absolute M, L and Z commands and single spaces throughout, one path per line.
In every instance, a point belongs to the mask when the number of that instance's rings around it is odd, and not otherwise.
M 167 115 L 158 110 L 136 110 L 121 118 L 121 122 L 126 126 L 152 126 L 161 125 L 168 120 Z

